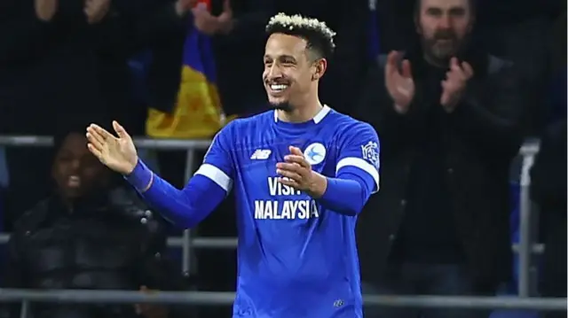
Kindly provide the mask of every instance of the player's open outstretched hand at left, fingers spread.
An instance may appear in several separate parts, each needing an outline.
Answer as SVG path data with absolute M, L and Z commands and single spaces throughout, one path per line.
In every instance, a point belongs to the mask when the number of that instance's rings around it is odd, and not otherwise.
M 87 128 L 87 147 L 100 162 L 122 175 L 130 175 L 138 163 L 138 154 L 132 138 L 118 122 L 113 121 L 113 134 L 98 125 Z

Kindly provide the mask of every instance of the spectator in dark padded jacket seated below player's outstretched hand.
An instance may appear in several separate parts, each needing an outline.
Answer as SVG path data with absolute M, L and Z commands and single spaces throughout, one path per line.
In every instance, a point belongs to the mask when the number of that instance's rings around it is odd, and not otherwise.
M 182 290 L 163 257 L 162 219 L 87 150 L 85 126 L 56 138 L 53 195 L 23 214 L 8 243 L 5 287 Z M 155 308 L 155 307 L 154 307 Z M 20 304 L 4 316 L 19 317 Z M 140 308 L 138 308 L 140 309 Z M 162 313 L 151 311 L 147 314 Z M 36 318 L 135 317 L 131 305 L 33 304 Z M 188 317 L 187 311 L 184 316 Z M 171 317 L 161 315 L 160 317 Z M 147 315 L 147 317 L 151 317 Z M 154 316 L 158 317 L 158 316 Z

